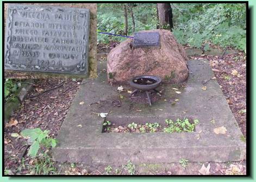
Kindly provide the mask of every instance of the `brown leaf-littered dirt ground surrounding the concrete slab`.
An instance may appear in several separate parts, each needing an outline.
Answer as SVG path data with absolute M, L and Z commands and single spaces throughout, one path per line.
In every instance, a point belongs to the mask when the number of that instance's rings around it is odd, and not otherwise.
M 98 61 L 118 43 L 98 44 Z M 230 109 L 238 121 L 246 138 L 246 57 L 243 53 L 221 56 L 193 56 L 190 59 L 208 59 L 215 77 L 222 87 Z M 235 70 L 235 71 L 234 71 Z M 130 174 L 126 166 L 86 166 L 85 164 L 57 163 L 51 158 L 51 151 L 43 149 L 36 158 L 27 156 L 29 145 L 23 138 L 11 137 L 27 128 L 49 130 L 49 136 L 55 138 L 68 112 L 71 102 L 81 84 L 81 79 L 39 79 L 13 115 L 17 120 L 14 126 L 4 128 L 4 168 L 5 174 Z M 53 89 L 54 88 L 54 89 Z M 49 90 L 52 89 L 52 90 Z M 49 90 L 49 91 L 47 91 Z M 47 91 L 47 92 L 46 92 Z M 43 165 L 41 161 L 44 162 Z M 202 165 L 210 168 L 201 170 Z M 123 164 L 127 165 L 127 164 Z M 186 175 L 186 174 L 246 174 L 246 159 L 227 163 L 190 163 L 141 164 L 135 166 L 134 174 L 149 175 Z M 42 168 L 42 170 L 36 170 Z

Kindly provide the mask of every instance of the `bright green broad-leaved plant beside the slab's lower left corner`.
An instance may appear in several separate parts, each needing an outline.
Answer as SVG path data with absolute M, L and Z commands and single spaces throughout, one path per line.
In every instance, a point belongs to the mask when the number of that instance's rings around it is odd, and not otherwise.
M 42 146 L 50 148 L 57 145 L 57 140 L 50 138 L 48 133 L 48 130 L 42 131 L 40 128 L 24 129 L 21 132 L 23 138 L 28 138 L 28 141 L 32 142 L 32 145 L 28 150 L 28 155 L 30 157 L 35 157 L 39 151 L 39 148 Z

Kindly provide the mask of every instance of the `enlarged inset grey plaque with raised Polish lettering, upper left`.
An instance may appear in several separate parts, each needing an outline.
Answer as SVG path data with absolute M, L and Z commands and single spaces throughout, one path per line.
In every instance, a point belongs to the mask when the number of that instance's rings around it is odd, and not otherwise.
M 88 74 L 89 9 L 8 5 L 4 69 Z

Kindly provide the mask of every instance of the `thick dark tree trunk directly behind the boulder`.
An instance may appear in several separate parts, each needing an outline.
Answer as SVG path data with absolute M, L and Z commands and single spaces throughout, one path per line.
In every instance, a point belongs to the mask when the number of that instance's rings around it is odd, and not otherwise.
M 160 29 L 173 29 L 172 8 L 170 3 L 157 3 L 158 21 Z

